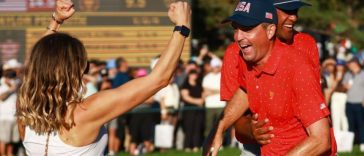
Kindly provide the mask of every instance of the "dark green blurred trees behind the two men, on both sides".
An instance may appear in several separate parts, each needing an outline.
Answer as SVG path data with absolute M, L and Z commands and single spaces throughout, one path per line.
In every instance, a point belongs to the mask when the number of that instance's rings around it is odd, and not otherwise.
M 229 25 L 220 22 L 228 17 L 238 0 L 192 0 L 193 38 L 221 51 L 232 36 Z M 350 38 L 358 49 L 364 48 L 363 0 L 305 0 L 312 4 L 299 11 L 298 26 L 313 36 L 331 40 Z M 320 40 L 320 39 L 318 39 Z

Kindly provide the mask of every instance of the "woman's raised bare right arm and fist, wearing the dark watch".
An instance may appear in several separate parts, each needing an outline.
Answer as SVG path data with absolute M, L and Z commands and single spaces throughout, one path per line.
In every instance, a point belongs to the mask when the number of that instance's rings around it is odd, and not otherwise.
M 187 2 L 172 3 L 168 10 L 168 16 L 176 26 L 190 28 L 190 15 L 191 9 Z M 78 115 L 75 112 L 75 122 L 101 126 L 167 86 L 176 69 L 185 40 L 186 36 L 179 31 L 174 31 L 166 49 L 161 53 L 158 63 L 148 76 L 134 79 L 118 88 L 88 97 L 79 108 L 76 108 Z

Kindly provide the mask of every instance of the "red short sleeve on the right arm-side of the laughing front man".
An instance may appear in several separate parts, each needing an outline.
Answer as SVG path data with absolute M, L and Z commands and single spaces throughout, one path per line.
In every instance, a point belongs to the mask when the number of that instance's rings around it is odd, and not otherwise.
M 293 110 L 305 127 L 327 117 L 330 112 L 321 92 L 320 84 L 315 79 L 315 71 L 307 63 L 295 66 L 293 91 L 297 105 Z

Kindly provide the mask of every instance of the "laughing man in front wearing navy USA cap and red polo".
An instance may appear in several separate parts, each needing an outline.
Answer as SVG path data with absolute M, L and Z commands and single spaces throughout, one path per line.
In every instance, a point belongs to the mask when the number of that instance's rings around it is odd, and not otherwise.
M 274 42 L 275 25 L 246 24 L 249 18 L 257 21 L 254 11 L 244 12 L 249 10 L 246 6 L 249 5 L 250 8 L 254 8 L 251 10 L 255 11 L 267 9 L 252 7 L 258 5 L 255 4 L 258 2 L 241 1 L 229 20 L 233 21 L 235 26 L 234 38 L 237 41 L 235 47 L 238 48 L 235 50 L 240 49 L 245 60 L 244 62 L 235 60 L 232 62 L 235 64 L 231 67 L 240 69 L 235 73 L 239 75 L 241 88 L 249 93 L 251 110 L 260 114 L 258 120 L 269 118 L 270 122 L 266 127 L 275 127 L 272 130 L 275 137 L 270 144 L 262 146 L 262 154 L 283 155 L 302 152 L 310 155 L 321 154 L 330 147 L 330 132 L 327 119 L 329 112 L 320 92 L 317 70 L 311 65 L 313 61 L 302 59 L 302 56 L 297 55 L 302 53 L 299 50 L 278 41 Z M 269 17 L 274 19 L 276 14 L 266 12 L 265 18 Z M 274 26 L 273 35 L 272 25 Z M 284 26 L 289 27 L 288 24 Z M 265 34 L 262 31 L 264 27 Z M 237 90 L 231 101 L 241 103 L 239 100 L 244 98 L 237 95 L 242 93 L 242 90 Z M 247 102 L 239 107 L 245 110 Z M 220 133 L 229 127 L 227 124 L 224 125 L 223 120 L 234 121 L 231 119 L 234 115 L 231 115 L 229 111 L 236 112 L 231 109 L 224 111 L 212 150 L 221 145 L 221 139 L 216 138 L 219 138 Z M 216 150 L 213 154 L 216 154 Z

